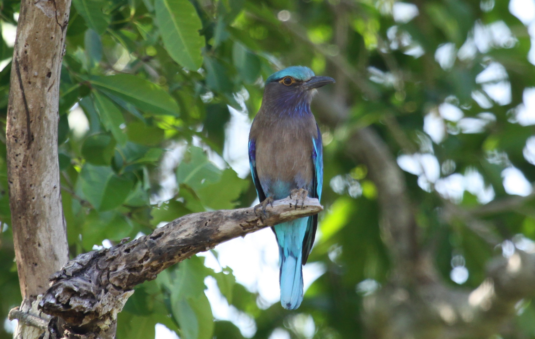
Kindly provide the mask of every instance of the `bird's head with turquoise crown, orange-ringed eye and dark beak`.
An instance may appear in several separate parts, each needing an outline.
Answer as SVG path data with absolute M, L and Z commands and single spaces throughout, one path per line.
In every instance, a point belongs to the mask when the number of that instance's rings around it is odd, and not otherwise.
M 316 88 L 332 84 L 330 77 L 315 76 L 305 66 L 290 66 L 271 74 L 266 80 L 263 104 L 276 108 L 300 108 L 310 106 Z M 268 103 L 269 102 L 269 103 Z

